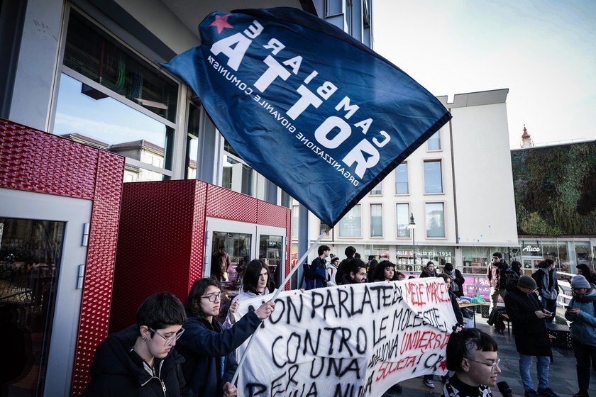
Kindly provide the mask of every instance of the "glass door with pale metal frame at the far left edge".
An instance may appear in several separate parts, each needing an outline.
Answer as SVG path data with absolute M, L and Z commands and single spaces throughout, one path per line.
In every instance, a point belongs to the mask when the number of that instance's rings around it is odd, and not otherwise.
M 0 189 L 2 396 L 67 396 L 82 290 L 79 265 L 92 202 Z

